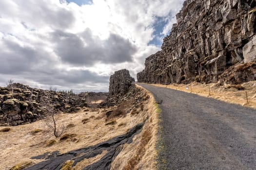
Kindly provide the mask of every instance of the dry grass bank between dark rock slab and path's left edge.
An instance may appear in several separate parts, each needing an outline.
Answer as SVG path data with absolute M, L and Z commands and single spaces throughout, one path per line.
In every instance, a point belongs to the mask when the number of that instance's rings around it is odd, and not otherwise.
M 138 85 L 137 85 L 138 86 Z M 138 86 L 139 88 L 142 88 Z M 117 158 L 112 162 L 111 170 L 155 170 L 156 169 L 156 142 L 159 123 L 159 113 L 155 99 L 147 90 L 143 91 L 150 96 L 144 103 L 143 111 L 136 116 L 144 121 L 142 132 L 133 138 L 131 144 L 125 144 Z M 121 167 L 121 169 L 120 169 Z

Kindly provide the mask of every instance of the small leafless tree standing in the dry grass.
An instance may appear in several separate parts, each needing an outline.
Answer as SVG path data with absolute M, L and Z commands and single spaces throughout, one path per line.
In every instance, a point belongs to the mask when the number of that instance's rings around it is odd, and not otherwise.
M 59 115 L 54 114 L 52 110 L 50 111 L 50 116 L 46 118 L 44 122 L 56 138 L 61 136 L 65 130 L 64 122 L 61 121 Z

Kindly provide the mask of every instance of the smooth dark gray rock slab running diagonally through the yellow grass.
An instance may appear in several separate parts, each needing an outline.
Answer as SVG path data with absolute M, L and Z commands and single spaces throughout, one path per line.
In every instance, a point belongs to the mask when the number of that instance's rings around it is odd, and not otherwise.
M 143 127 L 143 123 L 131 128 L 126 134 L 116 136 L 112 139 L 104 141 L 94 146 L 88 146 L 86 148 L 80 148 L 68 153 L 59 154 L 59 152 L 45 153 L 39 156 L 32 157 L 31 159 L 46 159 L 39 162 L 25 170 L 60 170 L 67 160 L 73 160 L 74 167 L 77 163 L 84 159 L 95 157 L 101 154 L 103 150 L 107 150 L 107 153 L 97 162 L 84 167 L 83 170 L 110 170 L 111 162 L 116 158 L 118 153 L 121 152 L 122 146 L 125 143 L 131 143 L 133 137 L 138 134 Z

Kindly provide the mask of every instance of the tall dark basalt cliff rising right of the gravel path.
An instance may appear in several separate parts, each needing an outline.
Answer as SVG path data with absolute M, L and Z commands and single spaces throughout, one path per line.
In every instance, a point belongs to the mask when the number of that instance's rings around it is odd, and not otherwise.
M 185 0 L 161 51 L 149 56 L 138 82 L 236 84 L 256 80 L 256 0 Z M 248 68 L 247 70 L 236 69 Z M 236 81 L 246 72 L 245 79 Z M 222 75 L 225 72 L 224 75 Z

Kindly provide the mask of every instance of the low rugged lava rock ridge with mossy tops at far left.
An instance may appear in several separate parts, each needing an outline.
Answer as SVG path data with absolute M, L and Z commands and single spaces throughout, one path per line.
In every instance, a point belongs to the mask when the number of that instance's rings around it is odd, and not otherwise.
M 87 102 L 77 94 L 15 83 L 0 87 L 0 126 L 31 123 L 49 112 L 73 112 L 83 106 Z

